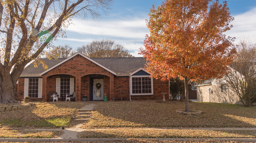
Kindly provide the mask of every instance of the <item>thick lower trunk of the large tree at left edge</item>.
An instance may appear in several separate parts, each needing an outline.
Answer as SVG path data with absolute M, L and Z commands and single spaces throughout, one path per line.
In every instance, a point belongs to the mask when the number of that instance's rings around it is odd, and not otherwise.
M 14 99 L 15 85 L 10 73 L 0 73 L 0 103 L 18 103 Z

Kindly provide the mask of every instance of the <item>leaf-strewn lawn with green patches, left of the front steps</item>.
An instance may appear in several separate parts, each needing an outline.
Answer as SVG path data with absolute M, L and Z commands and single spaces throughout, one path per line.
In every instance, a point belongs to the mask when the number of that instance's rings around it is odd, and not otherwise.
M 84 102 L 47 102 L 36 103 L 26 109 L 1 112 L 1 125 L 9 127 L 26 128 L 56 128 L 67 126 L 72 121 L 72 115 L 78 112 L 78 108 L 85 106 Z

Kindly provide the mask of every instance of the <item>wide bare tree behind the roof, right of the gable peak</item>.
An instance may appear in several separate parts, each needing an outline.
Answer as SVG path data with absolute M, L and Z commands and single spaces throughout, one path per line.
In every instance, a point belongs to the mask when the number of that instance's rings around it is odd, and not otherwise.
M 77 51 L 88 57 L 134 57 L 114 40 L 94 40 L 90 44 L 78 47 Z

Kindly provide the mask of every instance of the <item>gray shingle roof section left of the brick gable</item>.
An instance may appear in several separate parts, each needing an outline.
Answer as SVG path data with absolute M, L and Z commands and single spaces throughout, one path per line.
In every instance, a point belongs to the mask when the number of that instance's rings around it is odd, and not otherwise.
M 50 69 L 51 67 L 65 60 L 66 58 L 58 58 L 56 60 L 55 59 L 49 60 L 48 58 L 41 58 L 41 59 L 48 66 L 48 69 Z M 35 68 L 34 63 L 31 63 L 22 71 L 21 75 L 38 75 L 43 71 L 46 71 L 46 70 L 43 68 L 42 64 L 38 65 L 37 68 Z

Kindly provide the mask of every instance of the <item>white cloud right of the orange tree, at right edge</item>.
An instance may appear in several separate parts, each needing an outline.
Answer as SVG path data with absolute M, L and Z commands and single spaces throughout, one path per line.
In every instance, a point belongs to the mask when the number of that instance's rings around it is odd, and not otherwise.
M 236 37 L 235 43 L 243 38 L 249 38 L 252 43 L 256 43 L 256 8 L 243 14 L 234 16 L 231 22 L 233 27 L 225 34 L 227 36 Z

